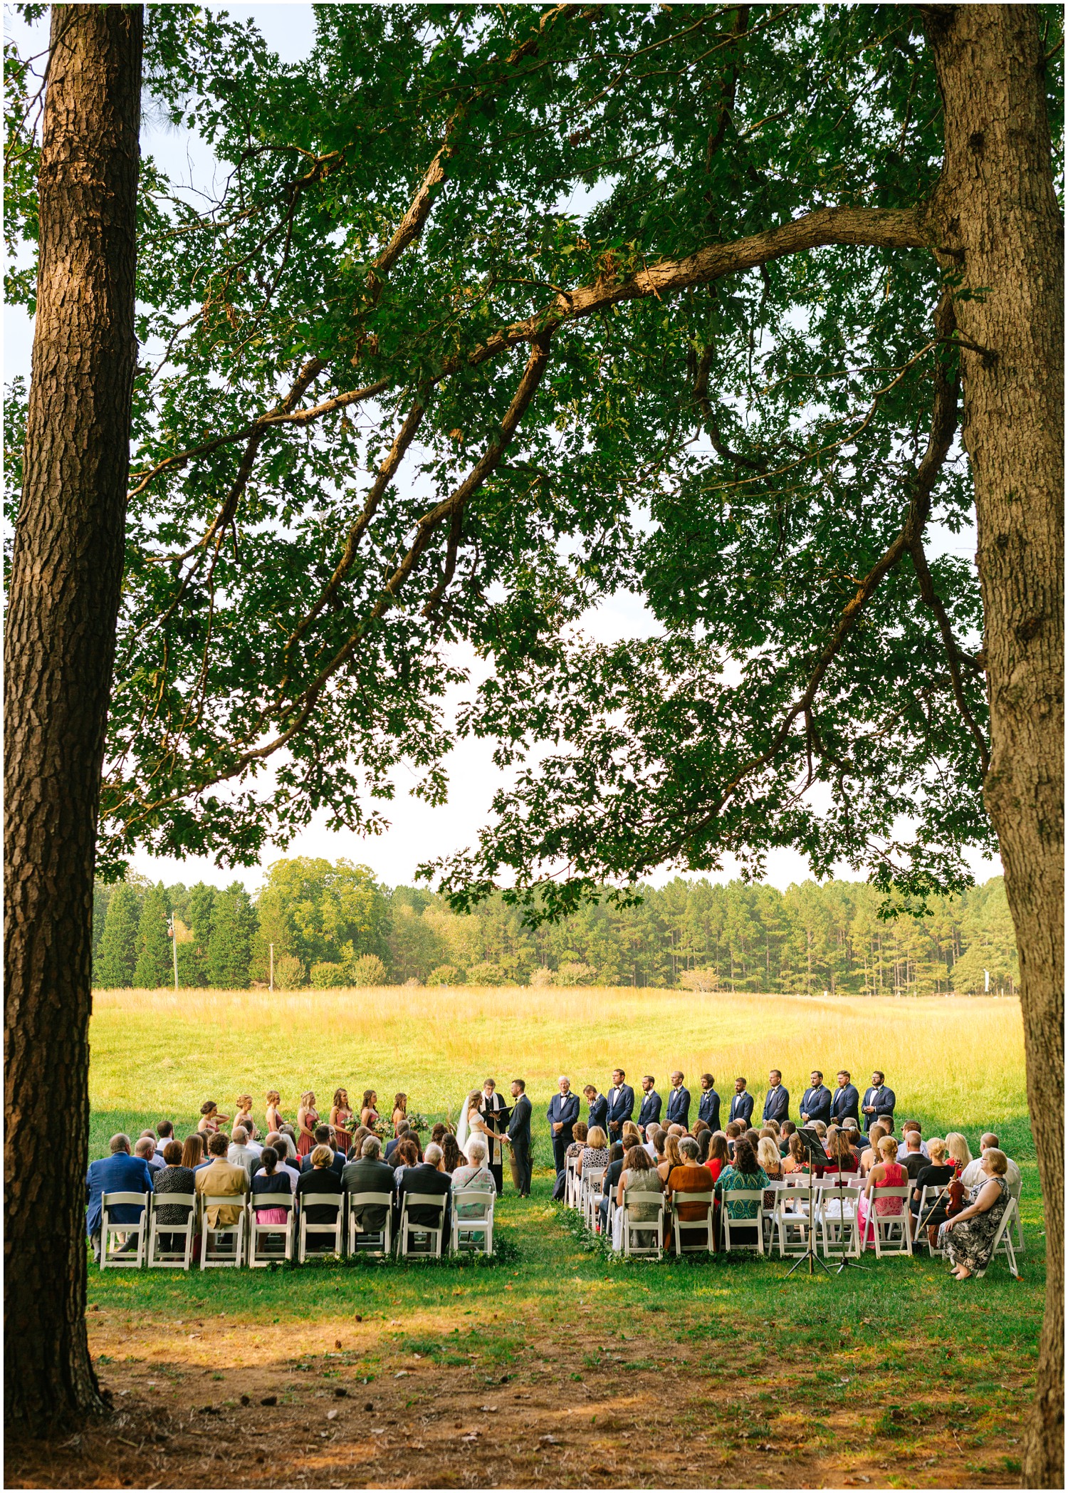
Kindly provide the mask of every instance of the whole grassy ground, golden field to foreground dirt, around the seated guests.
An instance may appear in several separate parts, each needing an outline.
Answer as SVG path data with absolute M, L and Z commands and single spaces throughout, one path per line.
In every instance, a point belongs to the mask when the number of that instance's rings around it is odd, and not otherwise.
M 814 1280 L 752 1256 L 618 1262 L 549 1199 L 559 1072 L 607 1082 L 770 1066 L 886 1069 L 898 1117 L 995 1126 L 1023 1168 L 1023 1281 L 941 1260 Z M 674 991 L 106 993 L 92 1145 L 201 1097 L 268 1085 L 328 1103 L 397 1088 L 440 1115 L 515 1073 L 534 1097 L 534 1197 L 506 1181 L 491 1265 L 91 1271 L 89 1342 L 119 1415 L 76 1445 L 7 1450 L 9 1486 L 976 1487 L 1017 1481 L 1044 1250 L 1008 1000 Z M 697 1088 L 697 1084 L 691 1087 Z M 664 1091 L 664 1088 L 661 1090 Z

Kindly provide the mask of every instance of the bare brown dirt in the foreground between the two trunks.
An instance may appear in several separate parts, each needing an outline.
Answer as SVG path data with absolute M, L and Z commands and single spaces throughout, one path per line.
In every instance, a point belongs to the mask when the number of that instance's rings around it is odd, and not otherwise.
M 352 1315 L 268 1326 L 89 1314 L 115 1415 L 58 1442 L 7 1442 L 6 1487 L 980 1487 L 1005 1486 L 935 1405 L 858 1377 L 788 1386 L 798 1365 L 731 1368 L 714 1351 L 635 1335 L 604 1356 L 595 1320 L 558 1318 L 522 1362 L 430 1354 Z M 440 1317 L 406 1329 L 440 1332 Z M 486 1312 L 488 1333 L 507 1326 Z M 515 1323 L 512 1324 L 515 1327 Z M 576 1371 L 586 1366 L 579 1381 Z M 571 1375 L 576 1374 L 576 1378 Z M 908 1405 L 902 1441 L 871 1435 L 873 1396 Z M 758 1400 L 764 1400 L 759 1403 Z M 1022 1396 L 1020 1411 L 1023 1412 Z M 862 1411 L 865 1414 L 862 1414 Z M 913 1441 L 914 1438 L 914 1441 Z M 911 1441 L 911 1445 L 910 1445 Z M 993 1450 L 993 1448 L 990 1448 Z M 1019 1450 L 1008 1445 L 1001 1450 Z

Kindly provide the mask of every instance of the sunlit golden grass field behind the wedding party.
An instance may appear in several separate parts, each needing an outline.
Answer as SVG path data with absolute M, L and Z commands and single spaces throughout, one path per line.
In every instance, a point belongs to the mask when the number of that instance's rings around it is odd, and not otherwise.
M 94 1109 L 192 1114 L 203 1099 L 233 1112 L 248 1090 L 263 1112 L 279 1088 L 295 1115 L 304 1088 L 325 1112 L 336 1087 L 382 1105 L 453 1115 L 486 1076 L 527 1079 L 544 1108 L 559 1073 L 606 1087 L 622 1065 L 641 1073 L 680 1067 L 695 1091 L 716 1075 L 726 1099 L 744 1073 L 759 1099 L 780 1067 L 792 1112 L 811 1067 L 834 1084 L 850 1069 L 861 1090 L 873 1067 L 898 1094 L 898 1115 L 984 1126 L 1026 1114 L 1020 1006 L 1010 999 L 822 999 L 691 994 L 679 990 L 104 990 L 94 997 L 89 1078 Z

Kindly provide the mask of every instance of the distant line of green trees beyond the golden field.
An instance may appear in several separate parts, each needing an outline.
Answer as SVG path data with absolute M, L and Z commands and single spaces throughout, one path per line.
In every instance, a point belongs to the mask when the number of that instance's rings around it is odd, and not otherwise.
M 805 881 L 788 891 L 676 878 L 632 908 L 598 903 L 525 927 L 494 897 L 458 915 L 365 866 L 276 861 L 255 897 L 240 882 L 164 887 L 142 876 L 95 888 L 94 984 L 157 988 L 312 985 L 656 985 L 694 990 L 922 996 L 1013 994 L 1013 926 L 999 876 L 925 917 L 879 917 L 867 882 Z

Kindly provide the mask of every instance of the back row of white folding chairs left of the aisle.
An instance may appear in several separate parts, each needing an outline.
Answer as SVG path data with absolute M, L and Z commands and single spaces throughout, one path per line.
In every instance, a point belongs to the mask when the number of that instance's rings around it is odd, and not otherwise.
M 442 1259 L 445 1242 L 443 1193 L 406 1193 L 401 1203 L 400 1227 L 394 1241 L 392 1193 L 313 1193 L 307 1203 L 297 1208 L 291 1193 L 257 1193 L 251 1197 L 234 1194 L 201 1196 L 197 1193 L 104 1193 L 101 1199 L 100 1224 L 100 1269 L 192 1269 L 197 1235 L 200 1235 L 200 1269 L 240 1269 L 277 1265 L 292 1260 L 303 1265 L 309 1254 L 340 1259 L 348 1239 L 349 1254 L 389 1256 L 401 1259 Z M 459 1199 L 453 1197 L 450 1244 L 453 1251 L 480 1248 L 483 1254 L 494 1253 L 494 1203 L 492 1190 L 465 1188 Z M 456 1217 L 456 1205 L 464 1217 Z M 112 1217 L 115 1208 L 140 1206 L 136 1223 Z M 182 1206 L 185 1223 L 163 1223 L 161 1208 Z M 209 1208 L 239 1208 L 237 1218 L 230 1224 L 209 1226 Z M 312 1223 L 307 1208 L 336 1209 L 333 1223 Z M 356 1214 L 362 1208 L 385 1208 L 385 1227 L 377 1232 L 361 1230 Z M 285 1223 L 261 1223 L 260 1209 L 282 1208 Z M 437 1226 L 413 1223 L 412 1208 L 433 1208 Z M 327 1248 L 315 1248 L 316 1244 Z M 133 1244 L 133 1247 L 131 1247 Z

